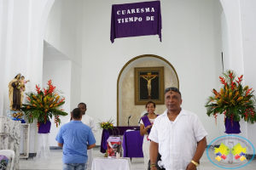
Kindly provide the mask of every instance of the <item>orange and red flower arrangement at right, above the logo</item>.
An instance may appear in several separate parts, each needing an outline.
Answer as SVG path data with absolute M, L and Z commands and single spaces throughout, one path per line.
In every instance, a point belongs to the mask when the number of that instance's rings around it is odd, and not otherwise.
M 256 122 L 253 88 L 241 84 L 243 75 L 235 79 L 234 71 L 226 71 L 223 75 L 219 77 L 223 88 L 219 91 L 213 88 L 213 95 L 207 100 L 207 115 L 214 116 L 216 123 L 218 114 L 224 114 L 224 119 L 228 117 L 232 124 L 233 121 L 240 122 L 241 118 L 246 122 Z

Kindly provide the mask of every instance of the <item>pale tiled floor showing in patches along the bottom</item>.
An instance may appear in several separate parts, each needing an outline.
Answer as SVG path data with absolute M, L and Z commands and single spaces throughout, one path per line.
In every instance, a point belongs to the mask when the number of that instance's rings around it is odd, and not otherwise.
M 20 159 L 20 170 L 33 169 L 33 170 L 61 170 L 62 168 L 62 150 L 50 150 L 51 158 L 43 160 L 33 160 L 32 158 Z M 94 157 L 103 157 L 99 148 L 94 149 Z M 206 151 L 201 158 L 201 165 L 199 170 L 218 170 L 221 167 L 216 167 L 208 160 Z M 256 169 L 256 160 L 251 161 L 247 166 L 239 168 L 239 170 L 253 170 Z M 131 170 L 143 170 L 143 158 L 132 158 Z

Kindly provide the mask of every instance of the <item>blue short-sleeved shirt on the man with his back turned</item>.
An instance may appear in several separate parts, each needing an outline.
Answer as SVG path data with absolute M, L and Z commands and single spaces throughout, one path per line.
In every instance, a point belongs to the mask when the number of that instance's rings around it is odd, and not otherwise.
M 63 144 L 64 163 L 86 163 L 87 144 L 96 143 L 90 127 L 74 120 L 61 126 L 55 140 Z

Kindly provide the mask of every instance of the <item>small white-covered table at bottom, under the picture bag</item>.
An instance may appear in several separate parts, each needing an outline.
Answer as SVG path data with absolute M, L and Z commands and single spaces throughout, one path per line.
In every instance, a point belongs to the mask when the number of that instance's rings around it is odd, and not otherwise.
M 93 159 L 91 170 L 131 170 L 131 161 L 128 157 Z

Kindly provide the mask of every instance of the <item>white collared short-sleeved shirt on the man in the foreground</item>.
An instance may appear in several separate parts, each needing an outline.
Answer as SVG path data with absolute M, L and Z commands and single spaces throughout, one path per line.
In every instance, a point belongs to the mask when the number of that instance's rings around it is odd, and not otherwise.
M 182 109 L 171 123 L 167 111 L 154 120 L 149 139 L 159 144 L 161 166 L 166 170 L 184 170 L 195 156 L 197 142 L 208 133 L 195 113 Z

